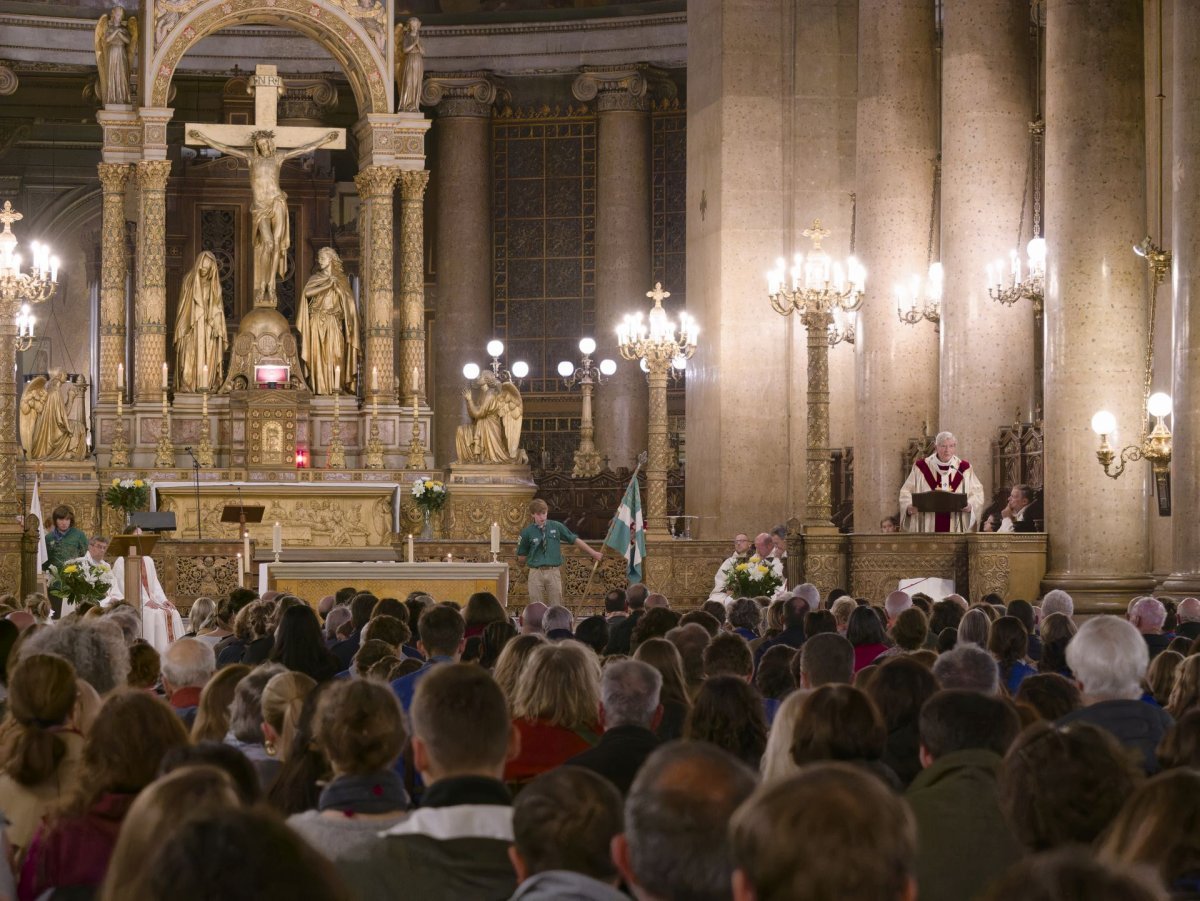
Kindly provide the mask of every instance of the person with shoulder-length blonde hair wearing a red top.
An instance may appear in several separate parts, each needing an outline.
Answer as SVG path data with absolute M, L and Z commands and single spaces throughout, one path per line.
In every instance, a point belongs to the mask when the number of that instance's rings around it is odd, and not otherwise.
M 504 768 L 508 782 L 527 782 L 592 747 L 600 740 L 596 655 L 572 641 L 534 650 L 517 685 L 512 717 L 521 752 Z

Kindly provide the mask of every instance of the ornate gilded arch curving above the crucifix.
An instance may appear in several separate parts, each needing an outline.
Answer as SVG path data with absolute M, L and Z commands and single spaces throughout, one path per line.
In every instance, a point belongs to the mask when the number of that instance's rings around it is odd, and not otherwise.
M 146 54 L 144 84 L 150 90 L 145 104 L 166 108 L 170 79 L 184 54 L 232 25 L 283 25 L 311 37 L 344 70 L 360 115 L 392 112 L 391 29 L 372 38 L 362 20 L 336 0 L 202 0 L 163 35 L 152 56 Z M 154 41 L 146 37 L 146 43 Z

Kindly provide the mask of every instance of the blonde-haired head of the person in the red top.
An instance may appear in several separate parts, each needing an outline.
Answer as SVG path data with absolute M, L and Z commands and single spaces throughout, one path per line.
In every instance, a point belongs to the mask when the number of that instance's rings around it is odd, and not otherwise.
M 534 649 L 521 674 L 514 719 L 545 720 L 563 728 L 595 725 L 600 714 L 600 661 L 577 642 Z

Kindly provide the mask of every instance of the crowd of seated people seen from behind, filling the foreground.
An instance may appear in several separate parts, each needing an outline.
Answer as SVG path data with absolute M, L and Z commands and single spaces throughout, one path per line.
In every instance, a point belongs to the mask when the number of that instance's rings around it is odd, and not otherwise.
M 0 597 L 0 901 L 1200 899 L 1196 599 L 604 608 Z

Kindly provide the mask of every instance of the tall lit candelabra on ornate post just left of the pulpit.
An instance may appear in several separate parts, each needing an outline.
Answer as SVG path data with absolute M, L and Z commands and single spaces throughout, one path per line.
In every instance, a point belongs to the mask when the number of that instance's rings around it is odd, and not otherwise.
M 829 230 L 820 220 L 802 233 L 811 239 L 808 257 L 797 253 L 791 287 L 785 280 L 784 260 L 767 275 L 772 308 L 780 316 L 797 313 L 809 336 L 809 420 L 808 420 L 808 525 L 830 525 L 829 497 L 829 347 L 838 343 L 830 334 L 834 311 L 854 313 L 863 306 L 866 272 L 853 257 L 834 263 L 821 250 Z

